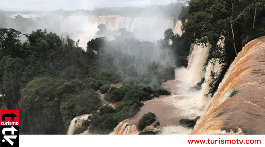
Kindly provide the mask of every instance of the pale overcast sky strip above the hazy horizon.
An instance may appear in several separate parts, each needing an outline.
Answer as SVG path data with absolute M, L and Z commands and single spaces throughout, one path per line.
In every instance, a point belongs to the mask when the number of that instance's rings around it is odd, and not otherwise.
M 166 5 L 171 0 L 0 0 L 0 10 L 76 10 L 95 7 L 147 7 Z M 175 2 L 175 1 L 173 1 Z

